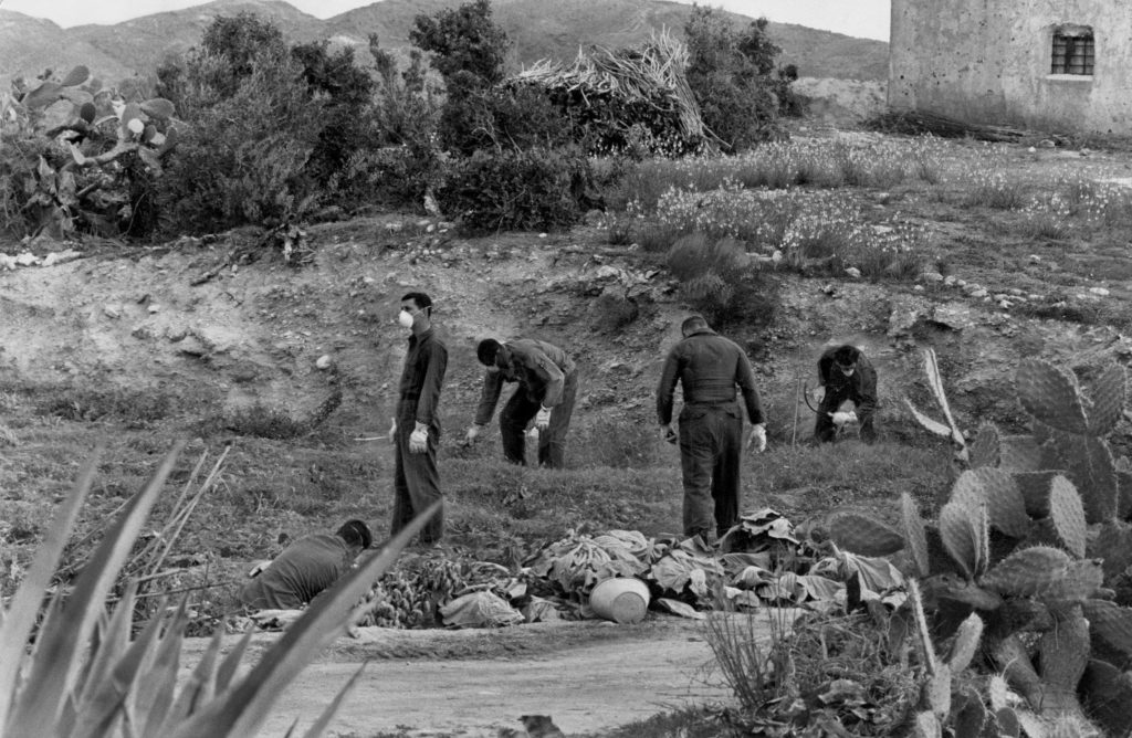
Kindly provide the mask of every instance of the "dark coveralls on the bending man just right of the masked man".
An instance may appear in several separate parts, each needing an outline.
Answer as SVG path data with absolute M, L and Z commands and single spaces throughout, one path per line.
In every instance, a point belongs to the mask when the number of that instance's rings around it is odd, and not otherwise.
M 504 457 L 513 464 L 526 464 L 523 434 L 542 405 L 550 409 L 550 426 L 539 434 L 539 464 L 561 469 L 565 466 L 566 431 L 577 397 L 577 367 L 565 351 L 544 341 L 518 338 L 504 346 L 511 353 L 511 361 L 499 371 L 484 372 L 475 424 L 491 422 L 503 383 L 517 381 L 520 386 L 499 413 Z

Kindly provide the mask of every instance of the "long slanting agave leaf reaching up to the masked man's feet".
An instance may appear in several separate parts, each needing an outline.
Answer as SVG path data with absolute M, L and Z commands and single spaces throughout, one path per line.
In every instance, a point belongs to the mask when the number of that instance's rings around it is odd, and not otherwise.
M 283 688 L 316 653 L 341 635 L 355 613 L 355 603 L 439 509 L 439 501 L 430 505 L 380 554 L 338 580 L 283 633 L 250 673 L 214 704 L 179 726 L 171 738 L 255 735 Z

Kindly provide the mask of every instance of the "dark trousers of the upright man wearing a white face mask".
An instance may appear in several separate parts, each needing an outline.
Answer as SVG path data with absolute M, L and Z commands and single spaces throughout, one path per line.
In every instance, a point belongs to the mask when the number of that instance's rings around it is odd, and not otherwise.
M 440 437 L 439 426 L 429 428 L 428 449 L 414 454 L 409 450 L 409 436 L 415 427 L 414 413 L 397 417 L 397 432 L 394 437 L 396 458 L 393 472 L 393 524 L 389 534 L 396 535 L 418 514 L 438 499 L 440 472 L 436 466 L 436 446 Z M 422 543 L 436 543 L 444 534 L 444 508 L 421 530 Z

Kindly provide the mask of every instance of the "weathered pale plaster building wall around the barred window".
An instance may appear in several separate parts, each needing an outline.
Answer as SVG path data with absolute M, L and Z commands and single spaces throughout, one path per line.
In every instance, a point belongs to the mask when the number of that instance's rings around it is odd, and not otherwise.
M 1062 26 L 1091 26 L 1091 77 L 1049 74 Z M 891 33 L 892 110 L 1132 134 L 1130 0 L 892 0 Z

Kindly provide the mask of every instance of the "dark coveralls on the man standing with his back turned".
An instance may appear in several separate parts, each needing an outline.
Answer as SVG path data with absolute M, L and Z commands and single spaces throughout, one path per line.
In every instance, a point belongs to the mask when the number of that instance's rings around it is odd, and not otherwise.
M 664 361 L 657 387 L 657 415 L 662 426 L 672 421 L 677 380 L 684 392 L 679 427 L 684 534 L 714 540 L 713 533 L 722 535 L 739 521 L 743 411 L 736 402 L 736 387 L 743 393 L 752 423 L 763 422 L 762 403 L 747 354 L 710 328 L 677 343 Z

